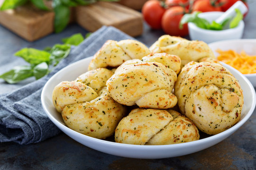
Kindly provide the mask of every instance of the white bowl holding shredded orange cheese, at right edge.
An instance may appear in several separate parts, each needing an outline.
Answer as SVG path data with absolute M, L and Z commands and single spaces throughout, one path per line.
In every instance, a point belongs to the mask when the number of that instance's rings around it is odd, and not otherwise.
M 238 53 L 245 51 L 248 55 L 256 55 L 256 39 L 238 39 L 238 40 L 226 40 L 219 42 L 212 42 L 208 44 L 211 50 L 214 52 L 214 55 L 217 57 L 219 55 L 216 52 L 217 49 L 227 51 L 234 50 Z M 254 74 L 244 74 L 252 85 L 256 87 L 256 73 Z

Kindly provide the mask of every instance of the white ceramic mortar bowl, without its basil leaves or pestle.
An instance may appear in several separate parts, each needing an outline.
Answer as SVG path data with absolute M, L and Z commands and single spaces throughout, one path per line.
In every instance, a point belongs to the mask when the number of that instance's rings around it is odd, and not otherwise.
M 209 22 L 214 21 L 224 12 L 203 12 L 198 16 L 207 19 Z M 240 21 L 239 25 L 232 29 L 226 30 L 207 30 L 196 26 L 194 23 L 188 23 L 189 36 L 192 40 L 199 40 L 206 43 L 216 42 L 221 40 L 239 39 L 243 35 L 244 21 Z

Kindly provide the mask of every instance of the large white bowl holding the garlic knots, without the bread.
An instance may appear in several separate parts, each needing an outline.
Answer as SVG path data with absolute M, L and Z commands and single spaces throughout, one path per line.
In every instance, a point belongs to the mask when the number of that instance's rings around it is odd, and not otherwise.
M 92 149 L 109 153 L 113 155 L 130 157 L 130 158 L 146 158 L 146 159 L 157 159 L 157 158 L 168 158 L 181 156 L 185 154 L 195 153 L 208 148 L 214 144 L 219 143 L 226 137 L 234 133 L 239 127 L 241 127 L 247 119 L 253 113 L 256 104 L 256 94 L 253 86 L 247 80 L 246 77 L 242 76 L 236 69 L 225 65 L 231 73 L 239 80 L 242 89 L 244 90 L 244 107 L 239 122 L 229 128 L 228 130 L 219 133 L 214 136 L 206 137 L 198 141 L 183 143 L 183 144 L 168 144 L 168 145 L 134 145 L 134 144 L 119 144 L 106 140 L 96 139 L 90 136 L 82 135 L 65 126 L 61 114 L 55 110 L 52 101 L 52 92 L 58 83 L 64 80 L 74 80 L 77 76 L 87 71 L 91 57 L 77 61 L 66 68 L 63 68 L 52 76 L 43 88 L 41 95 L 41 102 L 44 110 L 46 111 L 49 119 L 59 127 L 65 134 L 84 144 Z M 250 96 L 250 97 L 249 97 Z

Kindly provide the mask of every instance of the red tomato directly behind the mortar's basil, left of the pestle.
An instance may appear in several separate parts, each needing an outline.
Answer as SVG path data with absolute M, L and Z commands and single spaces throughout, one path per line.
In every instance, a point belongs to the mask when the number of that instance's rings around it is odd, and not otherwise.
M 210 12 L 222 11 L 214 0 L 197 0 L 193 5 L 193 11 Z

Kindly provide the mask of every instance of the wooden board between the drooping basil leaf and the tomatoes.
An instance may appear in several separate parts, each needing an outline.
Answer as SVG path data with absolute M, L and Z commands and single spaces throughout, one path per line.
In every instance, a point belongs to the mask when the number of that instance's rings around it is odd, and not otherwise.
M 93 5 L 76 7 L 75 12 L 77 23 L 91 32 L 101 26 L 114 26 L 131 36 L 143 32 L 141 13 L 117 3 L 100 1 Z

